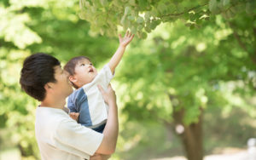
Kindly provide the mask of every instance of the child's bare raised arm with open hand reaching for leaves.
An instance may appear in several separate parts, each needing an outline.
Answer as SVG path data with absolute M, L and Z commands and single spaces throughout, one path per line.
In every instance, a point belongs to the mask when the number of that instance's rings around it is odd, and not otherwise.
M 113 57 L 108 63 L 112 73 L 114 72 L 115 67 L 118 66 L 121 58 L 123 57 L 123 54 L 125 53 L 126 46 L 131 42 L 133 37 L 134 34 L 131 34 L 130 31 L 126 31 L 125 37 L 121 37 L 121 35 L 119 34 L 119 48 L 113 54 Z

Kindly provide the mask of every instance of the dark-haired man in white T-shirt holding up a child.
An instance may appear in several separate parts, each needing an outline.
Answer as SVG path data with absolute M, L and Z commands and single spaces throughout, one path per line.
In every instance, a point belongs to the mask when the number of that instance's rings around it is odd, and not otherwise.
M 100 134 L 80 125 L 65 111 L 66 98 L 73 89 L 55 57 L 40 53 L 27 57 L 20 85 L 26 94 L 41 102 L 35 131 L 43 160 L 108 159 L 115 151 L 119 127 L 116 97 L 110 86 L 107 91 L 99 86 L 109 106 L 108 122 Z

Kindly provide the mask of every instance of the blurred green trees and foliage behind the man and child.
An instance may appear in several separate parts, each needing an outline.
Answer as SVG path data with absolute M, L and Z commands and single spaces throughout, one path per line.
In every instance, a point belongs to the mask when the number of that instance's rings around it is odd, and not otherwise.
M 101 69 L 118 48 L 118 37 L 91 31 L 78 12 L 78 0 L 1 0 L 0 159 L 40 159 L 39 102 L 19 85 L 26 56 L 48 53 L 63 66 L 86 55 Z M 255 38 L 255 14 L 246 13 L 229 21 L 217 14 L 194 30 L 183 20 L 161 23 L 146 39 L 135 37 L 113 79 L 120 124 L 111 159 L 246 149 L 256 136 Z

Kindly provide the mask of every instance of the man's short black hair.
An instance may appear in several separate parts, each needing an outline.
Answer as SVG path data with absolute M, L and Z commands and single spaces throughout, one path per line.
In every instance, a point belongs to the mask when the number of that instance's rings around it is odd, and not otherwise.
M 60 65 L 60 61 L 49 54 L 37 53 L 28 56 L 20 71 L 21 89 L 36 100 L 44 100 L 44 85 L 56 82 L 55 66 Z

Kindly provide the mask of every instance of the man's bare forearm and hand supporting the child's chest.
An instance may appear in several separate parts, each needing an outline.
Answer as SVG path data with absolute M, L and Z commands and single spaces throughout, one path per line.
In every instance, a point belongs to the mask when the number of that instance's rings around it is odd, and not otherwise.
M 102 86 L 98 86 L 102 92 L 102 96 L 106 103 L 108 103 L 108 121 L 106 123 L 105 129 L 103 131 L 103 140 L 101 145 L 96 150 L 96 153 L 110 155 L 115 151 L 116 142 L 119 134 L 119 119 L 118 119 L 118 110 L 116 105 L 116 96 L 114 94 L 111 86 L 108 86 L 108 89 L 104 91 Z

